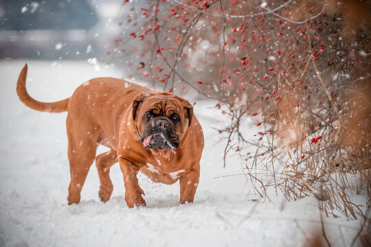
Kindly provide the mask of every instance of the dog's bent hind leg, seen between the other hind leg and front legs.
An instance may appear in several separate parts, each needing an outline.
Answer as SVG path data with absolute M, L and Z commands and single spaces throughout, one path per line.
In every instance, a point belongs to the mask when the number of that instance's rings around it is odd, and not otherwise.
M 109 152 L 100 154 L 95 158 L 95 165 L 97 166 L 100 179 L 100 189 L 98 194 L 102 202 L 108 201 L 111 197 L 113 185 L 111 178 L 109 178 L 109 169 L 117 162 L 117 152 L 115 150 L 110 150 Z

